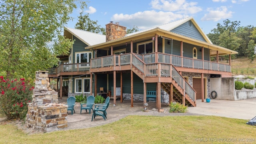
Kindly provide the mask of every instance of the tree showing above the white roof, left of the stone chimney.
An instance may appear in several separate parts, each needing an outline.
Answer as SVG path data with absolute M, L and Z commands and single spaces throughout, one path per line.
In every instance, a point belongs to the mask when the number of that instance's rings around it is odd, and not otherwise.
M 82 15 L 83 13 L 80 12 L 80 16 L 78 16 L 79 20 L 76 23 L 75 28 L 79 30 L 85 30 L 88 32 L 94 32 L 94 33 L 100 33 L 100 34 L 106 34 L 105 28 L 102 28 L 100 25 L 98 25 L 98 20 L 93 21 L 90 20 L 89 14 Z

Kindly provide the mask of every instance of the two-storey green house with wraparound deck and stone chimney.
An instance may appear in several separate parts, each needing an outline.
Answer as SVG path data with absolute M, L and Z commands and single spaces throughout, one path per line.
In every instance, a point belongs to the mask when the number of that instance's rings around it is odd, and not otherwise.
M 106 24 L 106 36 L 65 28 L 64 36 L 75 40 L 62 63 L 49 69 L 49 77 L 68 85 L 68 96 L 107 93 L 122 100 L 180 102 L 196 106 L 210 94 L 211 78 L 231 77 L 231 54 L 216 46 L 192 17 L 147 30 L 126 34 L 118 23 Z M 218 57 L 229 56 L 229 64 Z M 211 61 L 216 57 L 216 62 Z M 100 91 L 100 88 L 102 91 Z

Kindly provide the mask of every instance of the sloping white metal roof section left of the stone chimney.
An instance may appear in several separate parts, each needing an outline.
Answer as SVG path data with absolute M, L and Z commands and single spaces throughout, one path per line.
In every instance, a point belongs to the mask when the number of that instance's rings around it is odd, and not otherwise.
M 103 34 L 97 34 L 97 33 L 88 32 L 85 30 L 78 30 L 75 28 L 65 27 L 64 29 L 70 32 L 71 34 L 73 34 L 74 36 L 76 36 L 77 38 L 79 38 L 82 42 L 84 42 L 88 46 L 106 42 L 106 36 Z

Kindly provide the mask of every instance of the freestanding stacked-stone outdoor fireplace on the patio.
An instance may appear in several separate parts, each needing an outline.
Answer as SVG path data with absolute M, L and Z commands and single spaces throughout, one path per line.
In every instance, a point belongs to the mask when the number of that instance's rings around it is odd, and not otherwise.
M 41 132 L 68 127 L 68 106 L 58 104 L 58 92 L 50 88 L 48 71 L 36 71 L 33 100 L 28 103 L 26 126 Z

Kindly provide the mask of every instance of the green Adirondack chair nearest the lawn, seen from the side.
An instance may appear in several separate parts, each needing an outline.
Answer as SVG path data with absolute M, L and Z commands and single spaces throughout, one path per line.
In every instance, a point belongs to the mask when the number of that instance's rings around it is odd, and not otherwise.
M 106 105 L 102 105 L 102 106 L 96 106 L 96 108 L 94 108 L 93 110 L 93 114 L 92 114 L 92 120 L 95 118 L 95 116 L 102 116 L 102 118 L 104 118 L 104 120 L 106 120 L 107 118 L 107 108 L 109 105 L 109 97 L 106 98 Z

